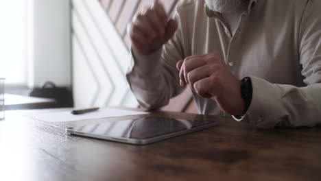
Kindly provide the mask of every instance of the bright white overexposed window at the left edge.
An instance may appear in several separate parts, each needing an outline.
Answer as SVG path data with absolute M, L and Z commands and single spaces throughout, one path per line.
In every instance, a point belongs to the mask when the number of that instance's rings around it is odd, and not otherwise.
M 0 1 L 0 77 L 27 84 L 27 1 Z

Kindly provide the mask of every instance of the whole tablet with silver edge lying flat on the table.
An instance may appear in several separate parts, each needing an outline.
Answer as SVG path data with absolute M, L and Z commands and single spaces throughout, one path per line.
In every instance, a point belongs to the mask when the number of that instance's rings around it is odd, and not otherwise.
M 144 145 L 166 138 L 195 132 L 217 125 L 216 121 L 191 121 L 144 117 L 67 128 L 69 134 L 100 138 L 108 141 Z

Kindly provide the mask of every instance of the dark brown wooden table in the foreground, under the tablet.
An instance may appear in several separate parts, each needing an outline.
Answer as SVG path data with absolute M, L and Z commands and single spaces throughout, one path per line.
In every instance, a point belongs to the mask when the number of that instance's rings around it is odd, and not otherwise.
M 321 180 L 320 128 L 261 130 L 222 117 L 154 112 L 219 125 L 136 146 L 64 132 L 89 121 L 21 117 L 34 111 L 7 111 L 0 121 L 0 180 Z

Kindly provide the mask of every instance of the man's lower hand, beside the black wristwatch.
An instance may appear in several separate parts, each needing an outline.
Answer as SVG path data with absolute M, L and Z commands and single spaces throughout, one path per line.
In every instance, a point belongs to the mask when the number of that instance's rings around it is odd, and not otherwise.
M 245 113 L 241 81 L 214 53 L 189 56 L 178 61 L 176 66 L 180 71 L 180 86 L 188 84 L 201 97 L 215 100 L 227 114 Z

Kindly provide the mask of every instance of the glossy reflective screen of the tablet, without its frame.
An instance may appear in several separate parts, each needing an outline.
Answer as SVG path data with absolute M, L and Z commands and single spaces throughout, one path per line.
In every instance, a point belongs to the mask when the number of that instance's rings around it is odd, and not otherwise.
M 111 137 L 146 139 L 169 134 L 171 132 L 189 130 L 200 125 L 207 125 L 213 122 L 214 121 L 191 121 L 187 119 L 144 117 L 112 123 L 84 125 L 75 127 L 73 130 Z

